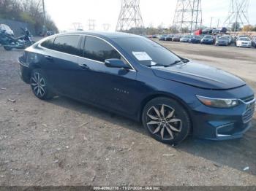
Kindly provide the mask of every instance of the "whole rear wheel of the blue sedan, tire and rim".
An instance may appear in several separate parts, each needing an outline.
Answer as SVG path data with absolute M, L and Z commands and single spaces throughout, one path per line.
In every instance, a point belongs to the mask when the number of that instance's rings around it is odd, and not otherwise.
M 48 80 L 42 69 L 34 69 L 31 72 L 30 85 L 37 98 L 42 100 L 53 98 L 53 93 L 50 90 Z

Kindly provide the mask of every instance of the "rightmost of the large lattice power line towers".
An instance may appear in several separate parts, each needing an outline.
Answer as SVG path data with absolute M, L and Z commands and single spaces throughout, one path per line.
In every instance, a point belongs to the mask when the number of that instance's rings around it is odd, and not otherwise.
M 249 24 L 249 0 L 230 0 L 230 10 L 224 25 L 238 31 L 240 26 Z

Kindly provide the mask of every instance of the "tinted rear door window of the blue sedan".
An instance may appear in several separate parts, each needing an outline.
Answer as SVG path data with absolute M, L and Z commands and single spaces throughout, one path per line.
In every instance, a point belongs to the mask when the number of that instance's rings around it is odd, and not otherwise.
M 78 55 L 78 35 L 57 36 L 54 41 L 53 50 L 65 52 L 71 55 Z

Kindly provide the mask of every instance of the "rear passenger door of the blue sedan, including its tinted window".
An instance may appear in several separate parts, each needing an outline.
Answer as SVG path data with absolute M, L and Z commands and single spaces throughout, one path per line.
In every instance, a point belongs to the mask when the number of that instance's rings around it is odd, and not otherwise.
M 82 70 L 78 65 L 80 38 L 80 35 L 56 36 L 50 50 L 45 50 L 42 63 L 53 89 L 72 98 L 77 98 L 77 74 Z

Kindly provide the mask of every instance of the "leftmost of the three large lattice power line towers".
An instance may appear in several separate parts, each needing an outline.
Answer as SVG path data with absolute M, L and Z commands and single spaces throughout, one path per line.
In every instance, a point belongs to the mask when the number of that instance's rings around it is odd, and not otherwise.
M 140 14 L 140 0 L 121 0 L 116 31 L 127 31 L 130 28 L 144 28 Z

